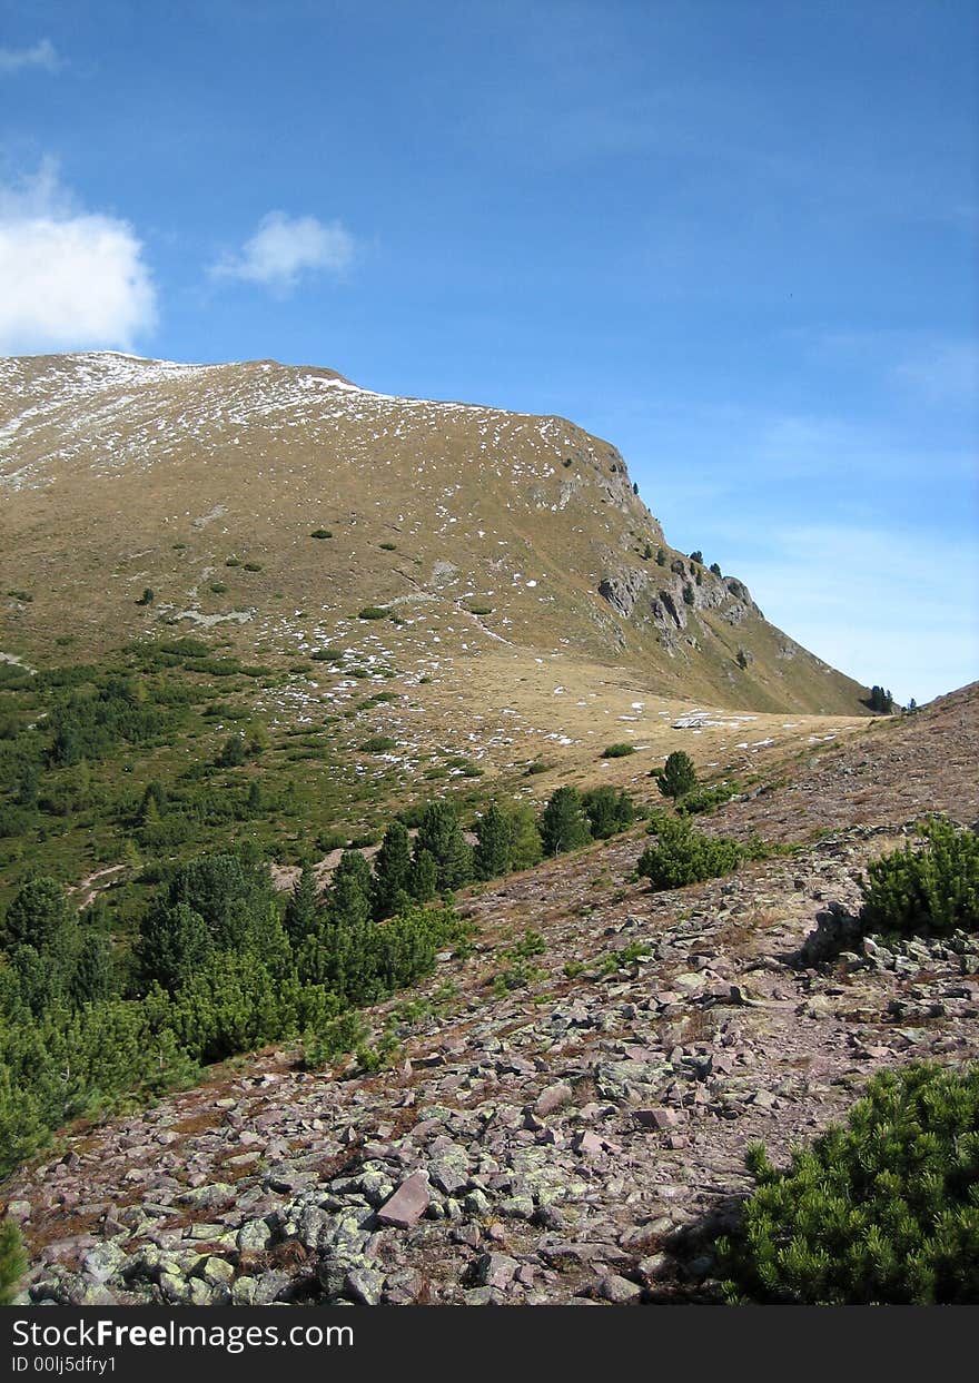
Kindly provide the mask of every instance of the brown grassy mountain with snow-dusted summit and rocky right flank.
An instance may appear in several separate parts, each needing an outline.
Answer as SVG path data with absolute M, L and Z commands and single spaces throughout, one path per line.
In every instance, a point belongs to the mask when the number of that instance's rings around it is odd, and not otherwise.
M 14 656 L 178 629 L 456 682 L 473 658 L 506 654 L 516 680 L 514 661 L 570 657 L 755 711 L 861 714 L 867 694 L 669 548 L 618 451 L 561 418 L 274 361 L 10 358 L 0 494 Z

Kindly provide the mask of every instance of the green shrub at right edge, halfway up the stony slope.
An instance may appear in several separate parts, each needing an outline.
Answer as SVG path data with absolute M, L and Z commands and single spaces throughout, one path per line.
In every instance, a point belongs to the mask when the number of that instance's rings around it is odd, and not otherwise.
M 867 866 L 860 920 L 868 931 L 979 931 L 979 835 L 932 817 L 910 845 Z

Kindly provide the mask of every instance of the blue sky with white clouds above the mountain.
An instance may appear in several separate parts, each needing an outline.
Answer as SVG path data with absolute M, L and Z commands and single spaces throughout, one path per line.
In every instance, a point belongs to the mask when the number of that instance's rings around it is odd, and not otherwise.
M 610 438 L 866 683 L 979 676 L 972 0 L 0 0 L 0 351 Z

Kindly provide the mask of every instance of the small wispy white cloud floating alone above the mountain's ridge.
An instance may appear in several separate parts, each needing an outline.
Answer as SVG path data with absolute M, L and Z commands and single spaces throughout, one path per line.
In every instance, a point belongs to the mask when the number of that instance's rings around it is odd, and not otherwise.
M 353 263 L 354 249 L 353 235 L 339 221 L 270 212 L 241 254 L 214 264 L 212 274 L 289 289 L 317 270 L 342 274 Z

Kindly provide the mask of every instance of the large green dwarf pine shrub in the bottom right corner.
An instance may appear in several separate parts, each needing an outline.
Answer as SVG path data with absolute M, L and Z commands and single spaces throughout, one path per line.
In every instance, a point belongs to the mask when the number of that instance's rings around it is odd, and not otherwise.
M 979 1066 L 881 1072 L 843 1126 L 776 1171 L 718 1245 L 730 1300 L 979 1301 Z

